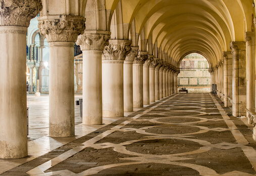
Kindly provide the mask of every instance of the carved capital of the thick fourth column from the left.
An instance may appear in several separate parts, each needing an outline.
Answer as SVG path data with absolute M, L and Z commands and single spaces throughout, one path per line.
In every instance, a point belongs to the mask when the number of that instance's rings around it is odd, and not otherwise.
M 103 50 L 103 60 L 125 60 L 131 52 L 129 40 L 109 40 L 109 43 Z

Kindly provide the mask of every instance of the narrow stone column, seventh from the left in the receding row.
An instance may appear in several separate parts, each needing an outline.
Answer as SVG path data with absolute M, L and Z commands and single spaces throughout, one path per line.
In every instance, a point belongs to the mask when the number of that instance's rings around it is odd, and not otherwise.
M 148 58 L 143 64 L 143 104 L 149 105 L 149 65 L 152 59 Z

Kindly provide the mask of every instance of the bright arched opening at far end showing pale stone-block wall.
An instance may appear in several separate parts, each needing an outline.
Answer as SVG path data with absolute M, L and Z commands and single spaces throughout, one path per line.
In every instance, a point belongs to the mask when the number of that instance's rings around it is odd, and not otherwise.
M 211 92 L 211 74 L 207 59 L 198 53 L 186 55 L 180 62 L 178 88 L 186 88 L 188 93 Z

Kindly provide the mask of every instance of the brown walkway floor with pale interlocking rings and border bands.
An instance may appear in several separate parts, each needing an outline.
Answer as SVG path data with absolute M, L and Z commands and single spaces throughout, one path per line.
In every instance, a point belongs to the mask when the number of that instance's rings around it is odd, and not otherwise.
M 1 175 L 256 175 L 251 135 L 215 96 L 176 94 Z

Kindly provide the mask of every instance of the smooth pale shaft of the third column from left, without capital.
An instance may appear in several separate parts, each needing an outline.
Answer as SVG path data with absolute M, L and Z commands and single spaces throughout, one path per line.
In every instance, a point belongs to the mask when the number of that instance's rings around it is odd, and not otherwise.
M 83 51 L 83 124 L 102 124 L 101 50 Z

